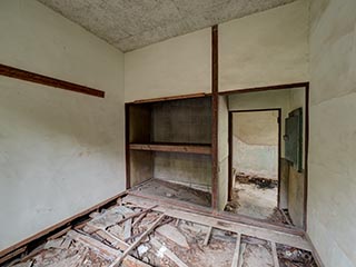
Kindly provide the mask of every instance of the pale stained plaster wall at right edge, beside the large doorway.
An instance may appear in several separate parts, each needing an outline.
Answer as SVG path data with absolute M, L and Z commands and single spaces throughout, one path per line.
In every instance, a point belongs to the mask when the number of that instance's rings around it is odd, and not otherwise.
M 312 3 L 308 234 L 326 267 L 356 266 L 355 10 Z

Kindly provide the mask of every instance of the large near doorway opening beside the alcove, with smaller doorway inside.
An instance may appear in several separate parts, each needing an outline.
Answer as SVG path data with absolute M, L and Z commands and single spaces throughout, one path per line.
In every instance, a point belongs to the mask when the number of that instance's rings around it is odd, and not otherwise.
M 220 209 L 305 229 L 308 88 L 233 91 L 220 101 Z

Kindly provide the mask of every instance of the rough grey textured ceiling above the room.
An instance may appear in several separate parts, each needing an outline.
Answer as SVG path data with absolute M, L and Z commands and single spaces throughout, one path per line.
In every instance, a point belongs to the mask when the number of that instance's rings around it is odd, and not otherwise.
M 123 52 L 294 0 L 38 0 Z

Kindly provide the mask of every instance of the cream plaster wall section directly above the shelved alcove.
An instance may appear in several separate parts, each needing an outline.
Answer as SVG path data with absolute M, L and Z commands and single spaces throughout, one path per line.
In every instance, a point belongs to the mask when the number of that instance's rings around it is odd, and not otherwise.
M 210 92 L 210 28 L 125 53 L 125 100 Z

